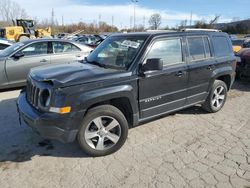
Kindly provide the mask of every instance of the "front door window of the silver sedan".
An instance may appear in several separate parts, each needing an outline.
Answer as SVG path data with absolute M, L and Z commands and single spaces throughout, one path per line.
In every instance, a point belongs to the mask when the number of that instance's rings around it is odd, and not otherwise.
M 29 45 L 22 50 L 25 56 L 43 55 L 48 53 L 48 43 L 39 42 Z

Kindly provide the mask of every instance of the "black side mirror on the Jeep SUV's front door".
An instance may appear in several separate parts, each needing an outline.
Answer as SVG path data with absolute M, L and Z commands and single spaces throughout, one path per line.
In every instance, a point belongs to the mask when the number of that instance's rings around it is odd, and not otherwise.
M 142 65 L 142 72 L 160 71 L 163 70 L 163 61 L 159 58 L 147 59 L 146 63 Z

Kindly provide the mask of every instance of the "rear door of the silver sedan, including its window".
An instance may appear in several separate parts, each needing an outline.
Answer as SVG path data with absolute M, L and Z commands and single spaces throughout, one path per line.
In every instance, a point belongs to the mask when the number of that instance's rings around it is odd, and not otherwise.
M 81 49 L 69 42 L 52 42 L 51 63 L 70 63 L 81 57 Z

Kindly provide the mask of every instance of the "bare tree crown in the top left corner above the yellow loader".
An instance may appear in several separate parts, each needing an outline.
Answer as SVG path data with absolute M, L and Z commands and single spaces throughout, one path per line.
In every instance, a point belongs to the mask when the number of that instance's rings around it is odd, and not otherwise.
M 0 0 L 0 16 L 2 21 L 9 23 L 16 18 L 28 17 L 25 9 L 11 0 Z

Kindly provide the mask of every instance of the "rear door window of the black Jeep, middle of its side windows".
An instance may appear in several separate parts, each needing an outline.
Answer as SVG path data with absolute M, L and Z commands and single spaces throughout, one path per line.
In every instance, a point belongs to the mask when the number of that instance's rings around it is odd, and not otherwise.
M 211 57 L 208 37 L 188 37 L 187 41 L 191 61 L 197 61 Z

